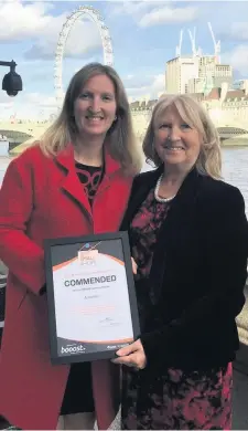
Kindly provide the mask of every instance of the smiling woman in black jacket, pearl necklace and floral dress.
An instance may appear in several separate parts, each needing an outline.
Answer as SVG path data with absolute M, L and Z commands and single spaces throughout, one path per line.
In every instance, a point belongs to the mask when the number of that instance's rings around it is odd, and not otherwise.
M 244 306 L 248 223 L 220 181 L 217 132 L 187 95 L 164 97 L 143 143 L 157 170 L 133 182 L 121 229 L 138 265 L 141 336 L 119 350 L 122 429 L 231 428 L 236 316 Z

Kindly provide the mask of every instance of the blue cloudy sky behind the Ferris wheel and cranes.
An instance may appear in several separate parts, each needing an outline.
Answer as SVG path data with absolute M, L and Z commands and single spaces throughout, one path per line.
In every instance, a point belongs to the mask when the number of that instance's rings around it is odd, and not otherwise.
M 235 77 L 248 77 L 248 1 L 0 1 L 1 60 L 14 60 L 23 78 L 15 98 L 0 93 L 0 117 L 48 117 L 55 111 L 54 53 L 66 15 L 79 6 L 98 9 L 112 39 L 115 67 L 133 99 L 164 91 L 165 63 L 175 56 L 184 28 L 182 53 L 191 53 L 187 29 L 196 27 L 196 44 L 214 52 L 207 27 L 222 42 L 222 60 Z M 89 61 L 103 62 L 100 35 L 86 17 L 72 30 L 63 62 L 63 85 Z M 8 70 L 1 67 L 1 76 Z

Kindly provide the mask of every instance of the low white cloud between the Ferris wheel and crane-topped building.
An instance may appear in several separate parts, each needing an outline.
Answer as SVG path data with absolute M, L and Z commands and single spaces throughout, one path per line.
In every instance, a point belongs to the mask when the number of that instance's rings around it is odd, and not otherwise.
M 125 80 L 123 80 L 125 81 Z M 145 76 L 140 82 L 140 77 L 137 76 L 136 81 L 132 77 L 131 86 L 128 86 L 126 81 L 126 92 L 129 97 L 133 99 L 148 96 L 150 99 L 158 98 L 160 93 L 165 91 L 165 76 L 164 74 L 158 74 L 153 76 Z M 145 81 L 145 84 L 144 84 Z M 143 84 L 143 85 L 142 85 Z

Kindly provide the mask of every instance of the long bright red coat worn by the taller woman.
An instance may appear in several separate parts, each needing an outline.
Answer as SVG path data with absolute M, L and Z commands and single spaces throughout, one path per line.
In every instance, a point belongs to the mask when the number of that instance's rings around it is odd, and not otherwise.
M 69 372 L 52 366 L 48 346 L 43 240 L 117 231 L 132 178 L 109 155 L 90 210 L 74 167 L 73 147 L 56 158 L 32 147 L 12 160 L 0 190 L 0 259 L 10 270 L 0 355 L 0 414 L 24 430 L 56 429 Z M 114 420 L 119 369 L 93 362 L 99 429 Z M 114 377 L 114 375 L 115 377 Z

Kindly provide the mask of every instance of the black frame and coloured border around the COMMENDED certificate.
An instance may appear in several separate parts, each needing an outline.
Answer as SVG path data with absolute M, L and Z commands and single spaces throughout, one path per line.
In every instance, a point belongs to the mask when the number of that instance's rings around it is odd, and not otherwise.
M 127 292 L 128 299 L 130 305 L 130 319 L 132 325 L 132 334 L 133 337 L 131 339 L 119 340 L 106 340 L 106 341 L 86 341 L 84 340 L 75 340 L 72 338 L 62 338 L 57 335 L 57 316 L 56 316 L 56 299 L 55 299 L 55 291 L 54 291 L 54 267 L 58 267 L 60 265 L 66 264 L 69 259 L 68 250 L 72 248 L 76 250 L 78 253 L 77 259 L 79 259 L 79 252 L 82 251 L 82 244 L 91 244 L 91 243 L 104 243 L 105 246 L 109 242 L 114 244 L 117 241 L 118 244 L 121 244 L 121 250 L 119 252 L 122 253 L 122 265 L 126 271 L 126 281 L 127 281 Z M 117 243 L 116 243 L 117 245 Z M 79 246 L 79 249 L 78 249 Z M 56 250 L 55 250 L 56 249 Z M 61 257 L 58 252 L 64 253 L 65 256 Z M 67 249 L 67 250 L 65 250 Z M 90 249 L 91 250 L 91 249 Z M 116 249 L 115 249 L 116 250 Z M 57 254 L 60 254 L 60 259 Z M 72 253 L 72 252 L 71 252 Z M 98 253 L 98 251 L 97 251 Z M 131 254 L 130 254 L 130 245 L 129 245 L 129 236 L 128 232 L 119 231 L 119 232 L 109 232 L 109 233 L 100 233 L 100 234 L 88 234 L 82 236 L 69 236 L 69 238 L 57 238 L 57 239 L 46 239 L 44 240 L 44 254 L 45 254 L 45 276 L 46 276 L 46 295 L 47 295 L 47 308 L 48 308 L 48 335 L 50 335 L 50 349 L 51 349 L 51 361 L 54 365 L 60 364 L 74 364 L 74 362 L 84 362 L 84 361 L 94 361 L 100 359 L 112 359 L 116 357 L 116 351 L 127 346 L 130 343 L 133 343 L 140 336 L 140 324 L 139 324 L 139 314 L 138 314 L 138 304 L 134 288 L 134 280 L 131 264 Z M 110 255 L 109 255 L 110 256 Z M 111 256 L 112 257 L 112 256 Z M 58 259 L 58 261 L 57 261 Z M 74 257 L 75 260 L 76 257 Z M 83 257 L 84 259 L 84 257 Z M 114 257 L 115 259 L 115 257 Z M 117 259 L 116 259 L 117 260 Z M 61 262 L 60 262 L 61 261 Z M 90 278 L 91 280 L 91 278 Z M 65 284 L 65 283 L 64 283 Z M 108 286 L 109 287 L 109 286 Z M 61 287 L 60 287 L 61 288 Z M 83 288 L 84 291 L 84 288 Z M 57 291 L 56 291 L 57 292 Z M 57 294 L 56 294 L 57 295 Z M 130 326 L 130 325 L 129 325 Z M 75 346 L 68 348 L 61 348 L 63 341 L 66 340 L 67 346 Z M 66 346 L 65 343 L 65 346 Z M 91 345 L 90 345 L 91 343 Z M 101 347 L 100 347 L 101 344 Z M 88 347 L 90 345 L 90 347 Z M 108 345 L 108 346 L 107 346 Z M 76 350 L 76 346 L 84 346 L 84 350 Z M 91 347 L 95 346 L 97 351 L 91 351 Z M 68 351 L 67 351 L 67 350 Z M 79 349 L 79 347 L 78 347 Z M 85 351 L 86 350 L 86 351 Z M 89 351 L 90 350 L 90 351 Z M 62 355 L 63 351 L 63 355 Z M 68 354 L 65 354 L 67 351 Z

